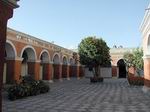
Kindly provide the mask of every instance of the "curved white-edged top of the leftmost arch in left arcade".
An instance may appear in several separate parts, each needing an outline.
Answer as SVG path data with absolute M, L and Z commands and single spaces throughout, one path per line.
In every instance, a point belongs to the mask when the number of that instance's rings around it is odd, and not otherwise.
M 15 58 L 17 56 L 16 48 L 11 41 L 6 41 L 5 49 L 7 58 Z

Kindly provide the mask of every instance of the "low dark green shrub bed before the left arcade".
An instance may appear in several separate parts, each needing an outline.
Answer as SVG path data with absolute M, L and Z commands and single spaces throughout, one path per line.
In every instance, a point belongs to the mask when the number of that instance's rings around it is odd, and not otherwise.
M 22 77 L 22 81 L 13 84 L 8 88 L 8 99 L 15 100 L 27 96 L 46 93 L 50 89 L 49 85 L 42 80 L 36 81 L 31 76 Z

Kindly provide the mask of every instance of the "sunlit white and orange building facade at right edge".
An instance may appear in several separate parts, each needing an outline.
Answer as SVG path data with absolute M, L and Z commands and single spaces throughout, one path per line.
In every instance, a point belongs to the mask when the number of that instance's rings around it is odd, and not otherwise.
M 150 5 L 145 11 L 143 21 L 140 26 L 144 50 L 144 88 L 145 92 L 150 93 Z

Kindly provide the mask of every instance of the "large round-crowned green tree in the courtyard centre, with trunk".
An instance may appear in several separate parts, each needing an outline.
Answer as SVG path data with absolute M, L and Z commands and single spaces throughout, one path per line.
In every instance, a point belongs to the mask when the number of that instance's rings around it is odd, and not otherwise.
M 99 66 L 110 66 L 109 47 L 102 38 L 87 37 L 78 46 L 80 63 L 94 68 L 94 77 L 98 77 Z

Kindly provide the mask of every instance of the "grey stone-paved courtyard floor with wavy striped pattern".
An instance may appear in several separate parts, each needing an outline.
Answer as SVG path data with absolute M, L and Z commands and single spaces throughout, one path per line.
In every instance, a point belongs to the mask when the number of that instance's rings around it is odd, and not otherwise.
M 9 101 L 3 94 L 3 112 L 150 112 L 150 96 L 126 79 L 71 79 L 50 84 L 49 93 Z

